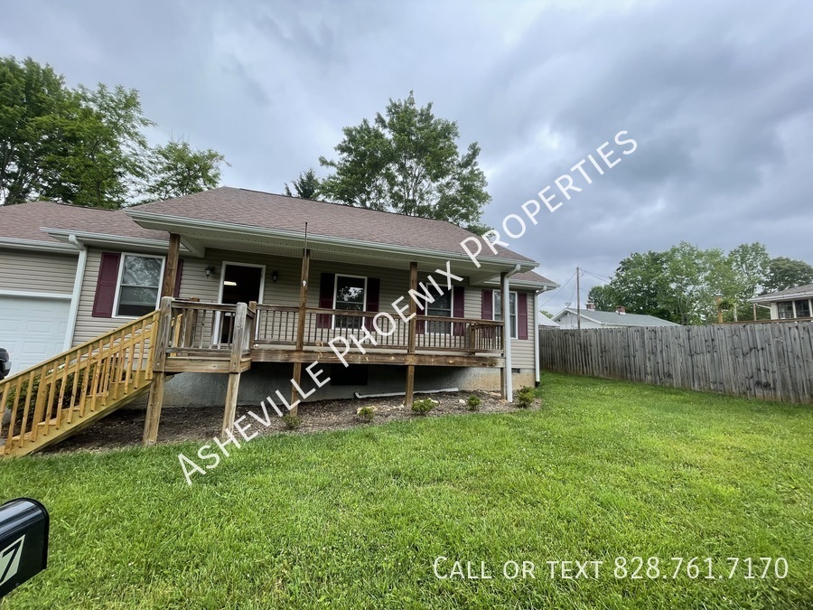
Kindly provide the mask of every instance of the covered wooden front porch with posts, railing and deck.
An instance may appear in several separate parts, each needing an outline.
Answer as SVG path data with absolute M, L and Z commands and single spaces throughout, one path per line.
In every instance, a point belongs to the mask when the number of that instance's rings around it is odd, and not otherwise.
M 404 394 L 407 405 L 413 400 L 415 370 L 419 366 L 499 368 L 502 395 L 510 396 L 510 374 L 506 374 L 506 371 L 510 371 L 510 352 L 506 350 L 510 341 L 506 325 L 500 320 L 472 315 L 474 299 L 476 313 L 480 314 L 481 289 L 477 285 L 487 279 L 500 278 L 498 290 L 502 296 L 501 302 L 508 305 L 510 271 L 504 262 L 486 261 L 477 267 L 462 254 L 451 255 L 449 258 L 452 260 L 445 261 L 436 253 L 416 253 L 415 259 L 409 260 L 399 256 L 400 253 L 371 251 L 357 245 L 338 246 L 333 243 L 328 247 L 304 232 L 301 236 L 288 236 L 281 242 L 259 237 L 247 239 L 243 234 L 226 235 L 220 229 L 211 230 L 217 235 L 203 236 L 201 230 L 192 231 L 193 235 L 171 233 L 154 351 L 155 381 L 148 401 L 145 444 L 153 444 L 157 438 L 165 379 L 182 372 L 229 375 L 223 418 L 225 432 L 234 423 L 240 375 L 248 371 L 253 362 L 292 364 L 292 389 L 288 404 L 294 413 L 297 399 L 301 398 L 300 393 L 306 391 L 303 387 L 307 386 L 307 383 L 303 383 L 303 378 L 307 381 L 303 365 L 307 368 L 315 361 L 324 364 L 403 366 L 406 368 Z M 184 249 L 197 255 L 198 267 L 206 265 L 207 258 L 213 252 L 218 252 L 221 260 L 225 260 L 223 252 L 232 252 L 232 258 L 251 260 L 251 264 L 257 266 L 262 263 L 267 267 L 265 281 L 272 278 L 274 286 L 280 286 L 282 282 L 276 284 L 277 272 L 276 268 L 273 271 L 272 268 L 277 264 L 285 265 L 289 282 L 287 292 L 272 292 L 275 302 L 270 303 L 259 301 L 264 294 L 268 296 L 267 285 L 265 291 L 260 288 L 257 300 L 238 303 L 207 303 L 194 297 L 173 298 L 170 295 L 173 294 L 173 286 L 176 286 L 178 268 L 182 266 L 179 263 L 181 244 Z M 190 258 L 185 261 L 184 277 L 192 269 L 191 262 L 194 261 Z M 298 295 L 294 293 L 291 277 L 294 262 L 299 267 L 295 286 Z M 222 266 L 226 264 L 231 263 L 223 262 Z M 326 269 L 336 274 L 338 282 L 341 274 L 352 277 L 354 266 L 373 269 L 369 275 L 378 276 L 375 279 L 382 286 L 380 299 L 376 295 L 375 303 L 372 302 L 373 277 L 365 279 L 365 297 L 357 308 L 353 308 L 352 303 L 340 303 L 340 300 L 351 299 L 340 299 L 338 286 L 332 301 L 325 300 L 323 291 L 315 287 L 310 289 L 314 284 L 319 286 L 320 277 L 324 283 Z M 206 267 L 208 269 L 210 266 Z M 451 279 L 447 284 L 446 277 L 437 275 L 444 269 L 451 269 L 456 278 L 463 280 L 458 282 L 456 279 L 453 290 L 450 288 Z M 225 274 L 224 269 L 221 283 L 225 283 Z M 435 286 L 449 295 L 455 292 L 455 302 L 460 303 L 460 309 L 454 307 L 448 314 L 438 314 L 430 307 L 424 309 L 418 305 L 421 298 L 415 295 L 429 289 L 427 286 L 431 282 L 427 281 L 427 276 L 432 274 L 436 277 Z M 207 277 L 209 275 L 207 273 Z M 217 275 L 216 267 L 214 275 Z M 469 315 L 461 315 L 465 311 L 461 300 L 463 288 L 469 291 Z M 456 294 L 458 289 L 459 297 Z M 218 300 L 222 301 L 225 294 L 221 288 Z M 277 295 L 281 298 L 277 299 Z M 396 298 L 392 299 L 393 296 Z M 389 303 L 391 300 L 393 303 Z M 340 305 L 345 305 L 345 308 Z M 507 315 L 503 315 L 502 319 L 506 319 Z M 272 394 L 274 390 L 276 388 L 269 388 L 268 393 Z

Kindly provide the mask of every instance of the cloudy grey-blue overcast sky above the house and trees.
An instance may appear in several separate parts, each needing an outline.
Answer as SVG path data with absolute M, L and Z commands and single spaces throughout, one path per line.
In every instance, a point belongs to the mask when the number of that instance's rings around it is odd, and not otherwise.
M 758 240 L 813 263 L 804 0 L 2 0 L 0 14 L 0 55 L 48 62 L 70 85 L 138 89 L 154 143 L 220 151 L 230 186 L 281 192 L 308 167 L 323 174 L 341 127 L 414 89 L 458 122 L 461 148 L 481 145 L 492 226 L 617 132 L 636 139 L 512 240 L 560 284 L 680 240 Z M 583 296 L 597 282 L 583 277 Z M 573 295 L 571 282 L 540 303 L 556 312 Z

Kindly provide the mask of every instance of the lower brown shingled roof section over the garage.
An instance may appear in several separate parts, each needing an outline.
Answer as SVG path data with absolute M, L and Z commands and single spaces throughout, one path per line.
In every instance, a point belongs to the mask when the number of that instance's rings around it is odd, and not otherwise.
M 57 242 L 40 230 L 76 230 L 135 239 L 169 240 L 163 230 L 141 227 L 123 210 L 99 210 L 54 202 L 27 202 L 0 206 L 0 238 Z

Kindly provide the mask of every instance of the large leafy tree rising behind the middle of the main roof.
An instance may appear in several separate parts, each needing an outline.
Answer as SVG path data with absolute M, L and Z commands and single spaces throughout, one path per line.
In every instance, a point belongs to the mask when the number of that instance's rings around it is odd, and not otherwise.
M 386 114 L 345 127 L 335 147 L 338 160 L 320 157 L 333 170 L 322 181 L 332 201 L 372 210 L 397 211 L 469 226 L 490 201 L 476 143 L 461 154 L 457 124 L 437 118 L 432 104 L 416 107 L 413 92 L 389 100 Z

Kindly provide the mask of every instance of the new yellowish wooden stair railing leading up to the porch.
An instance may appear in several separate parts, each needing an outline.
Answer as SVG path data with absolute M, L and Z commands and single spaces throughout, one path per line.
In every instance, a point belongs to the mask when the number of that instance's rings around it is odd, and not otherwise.
M 158 312 L 146 314 L 0 381 L 0 455 L 46 446 L 144 391 L 157 318 Z

